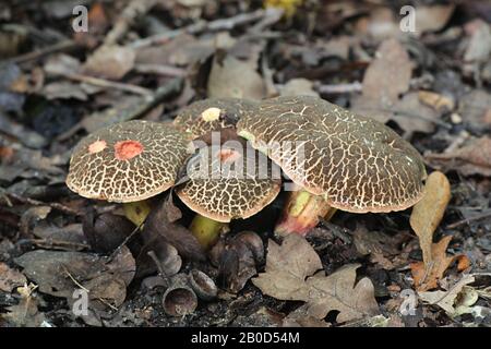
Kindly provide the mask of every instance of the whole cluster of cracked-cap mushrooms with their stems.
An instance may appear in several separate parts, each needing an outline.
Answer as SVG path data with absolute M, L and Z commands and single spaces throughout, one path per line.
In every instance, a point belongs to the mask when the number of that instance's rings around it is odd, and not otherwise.
M 221 136 L 214 141 L 213 132 Z M 187 172 L 193 164 L 208 164 L 207 176 Z M 84 197 L 124 205 L 172 188 L 196 213 L 190 230 L 209 248 L 231 219 L 271 204 L 282 178 L 295 190 L 275 232 L 306 234 L 335 209 L 406 209 L 422 197 L 426 176 L 420 154 L 390 128 L 296 96 L 205 99 L 172 123 L 133 120 L 100 129 L 74 148 L 67 184 Z

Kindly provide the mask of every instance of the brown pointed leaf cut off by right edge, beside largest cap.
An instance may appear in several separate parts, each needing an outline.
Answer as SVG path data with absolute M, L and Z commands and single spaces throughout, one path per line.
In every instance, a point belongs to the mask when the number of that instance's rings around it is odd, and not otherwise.
M 491 177 L 491 137 L 472 139 L 454 152 L 427 154 L 426 158 L 435 167 L 454 169 L 464 176 Z

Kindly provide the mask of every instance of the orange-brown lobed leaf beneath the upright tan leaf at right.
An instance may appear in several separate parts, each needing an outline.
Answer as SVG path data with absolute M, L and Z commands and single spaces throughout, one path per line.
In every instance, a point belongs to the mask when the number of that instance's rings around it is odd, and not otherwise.
M 410 265 L 415 286 L 418 291 L 428 291 L 438 287 L 439 280 L 443 278 L 445 270 L 457 261 L 457 269 L 464 270 L 469 267 L 470 261 L 464 255 L 446 255 L 451 236 L 444 237 L 436 243 L 431 245 L 431 264 L 427 267 L 423 262 L 412 263 Z

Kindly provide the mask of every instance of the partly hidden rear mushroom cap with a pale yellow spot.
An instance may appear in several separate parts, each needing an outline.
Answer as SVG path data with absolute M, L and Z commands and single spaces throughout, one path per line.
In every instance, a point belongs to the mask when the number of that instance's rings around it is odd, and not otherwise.
M 197 100 L 179 112 L 173 119 L 173 125 L 195 140 L 208 132 L 235 127 L 243 115 L 253 112 L 256 108 L 258 103 L 240 98 Z

